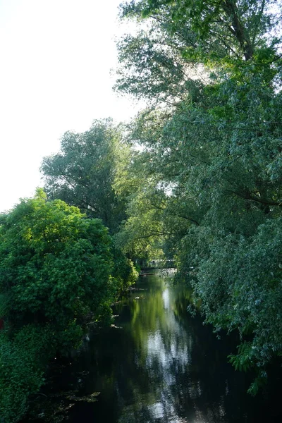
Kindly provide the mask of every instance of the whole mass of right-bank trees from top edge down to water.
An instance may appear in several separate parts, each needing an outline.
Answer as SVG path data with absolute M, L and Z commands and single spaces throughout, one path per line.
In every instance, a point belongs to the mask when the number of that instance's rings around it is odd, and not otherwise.
M 123 17 L 149 19 L 118 45 L 116 83 L 151 102 L 130 128 L 141 148 L 126 168 L 135 188 L 117 239 L 127 252 L 159 244 L 175 257 L 206 321 L 239 331 L 231 361 L 256 370 L 252 394 L 282 353 L 281 3 L 272 5 L 124 4 Z

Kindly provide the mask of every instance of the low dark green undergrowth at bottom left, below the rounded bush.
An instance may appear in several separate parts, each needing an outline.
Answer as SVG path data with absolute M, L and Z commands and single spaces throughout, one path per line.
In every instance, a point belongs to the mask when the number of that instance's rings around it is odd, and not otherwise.
M 1 331 L 0 415 L 5 423 L 23 417 L 28 398 L 44 383 L 45 365 L 52 354 L 54 342 L 48 327 L 24 326 L 13 339 Z

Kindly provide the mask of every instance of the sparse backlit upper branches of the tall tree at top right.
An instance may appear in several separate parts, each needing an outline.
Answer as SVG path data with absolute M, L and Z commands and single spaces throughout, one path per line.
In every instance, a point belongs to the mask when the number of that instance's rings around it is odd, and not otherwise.
M 226 75 L 247 61 L 280 61 L 281 1 L 140 0 L 121 5 L 121 16 L 148 23 L 118 42 L 115 88 L 150 103 L 193 98 L 211 68 Z

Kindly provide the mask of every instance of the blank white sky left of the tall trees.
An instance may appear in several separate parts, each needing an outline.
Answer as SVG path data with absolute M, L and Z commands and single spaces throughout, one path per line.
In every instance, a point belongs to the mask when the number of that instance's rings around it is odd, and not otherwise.
M 42 186 L 66 130 L 133 116 L 112 92 L 121 0 L 0 0 L 0 212 Z

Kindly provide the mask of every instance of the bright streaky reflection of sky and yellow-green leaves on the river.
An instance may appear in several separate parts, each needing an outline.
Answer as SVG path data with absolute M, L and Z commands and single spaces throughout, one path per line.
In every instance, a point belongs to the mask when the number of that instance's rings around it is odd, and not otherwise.
M 201 372 L 197 359 L 192 361 L 197 337 L 190 325 L 185 326 L 181 307 L 177 307 L 184 299 L 183 291 L 168 288 L 160 278 L 150 278 L 150 282 L 143 300 L 130 305 L 132 336 L 140 346 L 135 363 L 147 373 L 148 391 L 142 393 L 135 380 L 133 398 L 123 407 L 118 422 L 227 422 L 221 396 L 202 407 Z M 123 381 L 116 388 L 122 396 Z

